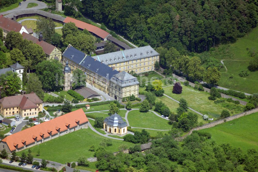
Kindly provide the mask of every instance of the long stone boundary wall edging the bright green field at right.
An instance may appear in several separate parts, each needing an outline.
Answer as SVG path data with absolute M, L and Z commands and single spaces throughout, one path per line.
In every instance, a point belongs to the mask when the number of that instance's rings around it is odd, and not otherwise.
M 233 119 L 237 119 L 237 118 L 240 118 L 240 117 L 245 116 L 245 115 L 250 115 L 250 114 L 253 114 L 255 112 L 258 112 L 258 108 L 252 109 L 252 110 L 248 110 L 248 111 L 245 111 L 243 113 L 240 113 L 240 114 L 237 114 L 237 115 L 233 115 L 233 116 L 230 116 L 230 117 L 227 117 L 227 118 L 224 118 L 224 119 L 220 119 L 218 121 L 214 121 L 214 122 L 211 122 L 211 123 L 208 123 L 208 124 L 204 124 L 203 126 L 193 128 L 192 130 L 190 130 L 188 132 L 188 134 L 184 135 L 183 137 L 177 137 L 175 140 L 182 141 L 188 135 L 192 134 L 192 132 L 194 130 L 198 131 L 198 130 L 202 130 L 202 129 L 205 129 L 205 128 L 211 128 L 211 127 L 214 127 L 215 125 L 222 124 L 222 123 L 227 122 L 227 121 L 232 121 Z

